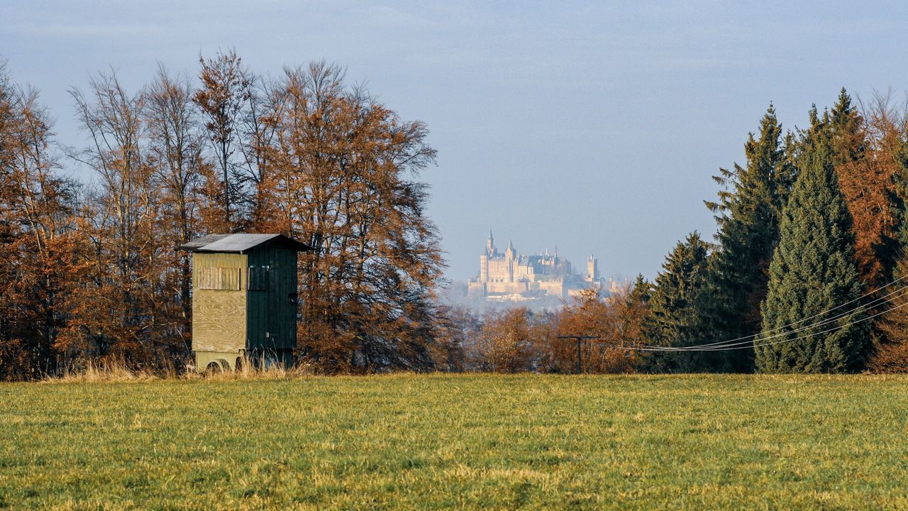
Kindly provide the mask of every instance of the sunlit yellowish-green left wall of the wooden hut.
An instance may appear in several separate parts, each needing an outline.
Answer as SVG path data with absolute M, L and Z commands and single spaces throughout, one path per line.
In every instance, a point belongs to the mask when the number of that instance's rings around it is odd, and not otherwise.
M 198 276 L 215 268 L 226 275 L 222 286 L 232 290 L 204 289 L 193 282 L 192 349 L 195 351 L 235 352 L 246 346 L 246 255 L 204 254 L 192 256 L 192 274 Z M 220 277 L 219 277 L 220 278 Z

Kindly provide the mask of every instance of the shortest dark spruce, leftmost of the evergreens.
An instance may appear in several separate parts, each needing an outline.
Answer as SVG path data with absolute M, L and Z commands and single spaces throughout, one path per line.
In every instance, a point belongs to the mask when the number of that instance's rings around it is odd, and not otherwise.
M 644 324 L 646 343 L 656 346 L 694 346 L 705 341 L 706 277 L 709 253 L 694 232 L 678 242 L 656 276 Z M 649 372 L 713 372 L 728 367 L 720 352 L 653 352 L 642 369 Z

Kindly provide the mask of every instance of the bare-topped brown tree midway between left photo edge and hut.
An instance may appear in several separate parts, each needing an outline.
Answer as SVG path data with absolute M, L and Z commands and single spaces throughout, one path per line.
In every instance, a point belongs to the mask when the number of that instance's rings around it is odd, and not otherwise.
M 185 326 L 178 319 L 183 307 L 164 298 L 179 265 L 173 232 L 163 225 L 170 216 L 163 214 L 166 186 L 146 153 L 146 95 L 127 92 L 114 73 L 96 75 L 87 93 L 72 95 L 92 145 L 71 155 L 94 171 L 97 185 L 86 196 L 80 230 L 90 265 L 74 288 L 59 350 L 161 366 L 185 349 L 174 335 Z

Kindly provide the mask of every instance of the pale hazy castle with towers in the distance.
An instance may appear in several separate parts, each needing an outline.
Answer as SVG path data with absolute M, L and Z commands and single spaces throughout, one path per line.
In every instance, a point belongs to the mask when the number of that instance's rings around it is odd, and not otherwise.
M 602 289 L 596 257 L 587 259 L 587 272 L 575 274 L 570 261 L 554 254 L 518 254 L 514 244 L 498 252 L 489 231 L 486 249 L 479 255 L 479 276 L 469 279 L 468 296 L 490 302 L 522 302 L 568 298 L 584 289 Z

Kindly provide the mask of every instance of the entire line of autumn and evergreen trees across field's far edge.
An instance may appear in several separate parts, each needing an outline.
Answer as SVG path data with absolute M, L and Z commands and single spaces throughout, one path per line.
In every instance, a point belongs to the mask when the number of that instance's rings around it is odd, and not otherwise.
M 70 93 L 84 146 L 60 145 L 38 92 L 0 65 L 0 379 L 181 368 L 192 272 L 176 247 L 232 232 L 316 248 L 297 355 L 327 372 L 569 373 L 563 336 L 597 337 L 580 344 L 587 372 L 908 369 L 908 117 L 890 95 L 843 90 L 789 131 L 770 105 L 745 163 L 715 176 L 715 240 L 687 235 L 653 282 L 475 316 L 437 296 L 427 126 L 339 66 L 266 77 L 226 51 L 192 77 L 159 66 L 128 91 L 112 71 Z M 720 349 L 639 351 L 706 344 Z

